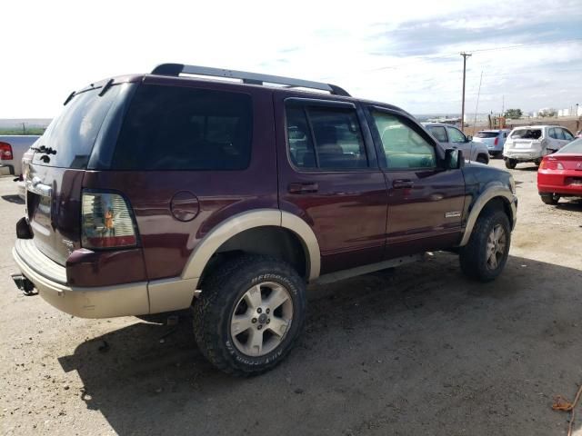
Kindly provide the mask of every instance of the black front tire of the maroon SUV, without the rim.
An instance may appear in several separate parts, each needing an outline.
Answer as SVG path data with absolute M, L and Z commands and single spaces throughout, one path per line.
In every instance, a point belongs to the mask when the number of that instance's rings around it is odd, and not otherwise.
M 497 268 L 490 269 L 487 265 L 487 238 L 489 233 L 500 224 L 505 231 L 507 243 L 503 257 L 498 261 Z M 498 207 L 485 209 L 477 218 L 469 242 L 459 250 L 461 271 L 467 277 L 479 282 L 491 282 L 503 271 L 507 263 L 507 255 L 511 244 L 511 226 L 505 211 Z

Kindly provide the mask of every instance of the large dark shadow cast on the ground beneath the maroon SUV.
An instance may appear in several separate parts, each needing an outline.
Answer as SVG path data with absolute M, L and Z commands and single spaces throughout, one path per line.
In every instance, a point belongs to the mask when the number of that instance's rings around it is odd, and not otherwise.
M 469 282 L 437 253 L 310 289 L 296 350 L 257 378 L 217 372 L 187 320 L 137 322 L 59 362 L 121 435 L 560 434 L 552 395 L 582 381 L 580 289 L 581 271 L 518 257 Z

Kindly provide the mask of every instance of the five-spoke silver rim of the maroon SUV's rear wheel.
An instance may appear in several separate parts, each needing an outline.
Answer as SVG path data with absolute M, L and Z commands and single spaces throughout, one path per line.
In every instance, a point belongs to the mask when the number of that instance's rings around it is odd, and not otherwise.
M 239 352 L 259 357 L 283 342 L 292 320 L 293 302 L 286 287 L 276 282 L 262 282 L 236 302 L 230 335 Z

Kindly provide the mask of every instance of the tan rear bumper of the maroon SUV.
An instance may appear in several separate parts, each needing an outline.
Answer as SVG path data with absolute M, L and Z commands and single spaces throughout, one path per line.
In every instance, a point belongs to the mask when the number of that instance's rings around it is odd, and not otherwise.
M 68 286 L 65 267 L 41 253 L 32 239 L 17 239 L 12 255 L 45 302 L 59 311 L 81 318 L 149 313 L 147 282 L 95 288 Z

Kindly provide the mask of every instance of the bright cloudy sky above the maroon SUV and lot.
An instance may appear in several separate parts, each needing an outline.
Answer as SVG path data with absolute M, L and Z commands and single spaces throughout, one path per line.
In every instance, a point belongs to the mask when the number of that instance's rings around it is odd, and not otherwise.
M 162 63 L 324 81 L 413 114 L 459 114 L 460 52 L 472 54 L 467 113 L 477 95 L 479 113 L 582 105 L 582 0 L 8 0 L 2 15 L 0 118 L 52 118 L 75 89 Z

